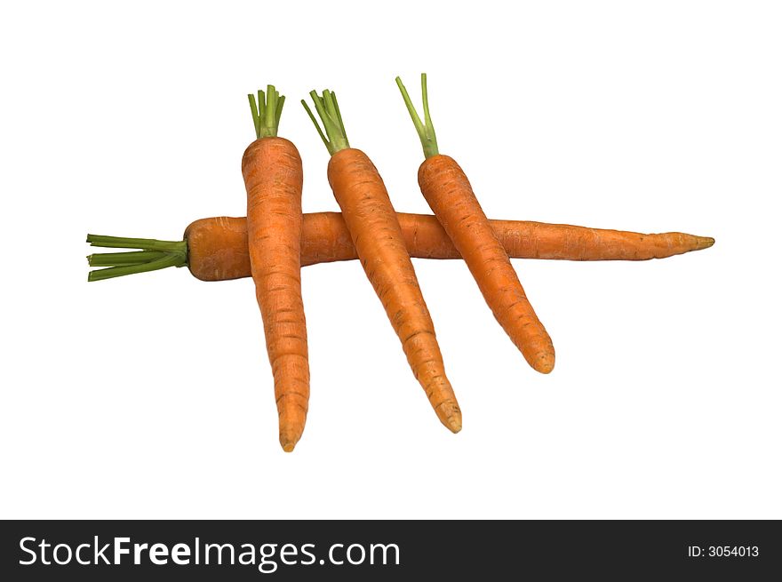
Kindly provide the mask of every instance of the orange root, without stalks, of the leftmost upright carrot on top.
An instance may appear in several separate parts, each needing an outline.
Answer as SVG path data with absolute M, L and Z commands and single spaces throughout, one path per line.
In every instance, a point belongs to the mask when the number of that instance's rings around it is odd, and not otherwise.
M 301 188 L 296 147 L 283 138 L 253 141 L 242 157 L 247 248 L 275 379 L 280 444 L 291 452 L 307 421 L 309 361 L 301 299 Z

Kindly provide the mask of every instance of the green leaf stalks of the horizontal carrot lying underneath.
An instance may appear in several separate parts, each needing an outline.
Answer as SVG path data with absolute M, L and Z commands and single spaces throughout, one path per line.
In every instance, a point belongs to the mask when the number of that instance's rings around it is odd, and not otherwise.
M 188 243 L 186 241 L 87 235 L 87 243 L 90 243 L 90 246 L 109 249 L 137 249 L 136 251 L 102 252 L 88 256 L 87 262 L 90 267 L 106 268 L 90 271 L 87 281 L 102 281 L 113 277 L 156 271 L 166 267 L 185 267 L 188 264 Z

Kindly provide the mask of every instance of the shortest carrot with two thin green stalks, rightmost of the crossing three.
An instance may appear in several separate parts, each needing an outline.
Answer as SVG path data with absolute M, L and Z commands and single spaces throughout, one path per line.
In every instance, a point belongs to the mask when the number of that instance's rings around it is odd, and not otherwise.
M 544 374 L 554 369 L 554 345 L 532 308 L 491 222 L 459 164 L 437 149 L 435 128 L 429 117 L 427 75 L 421 75 L 424 123 L 421 123 L 410 96 L 397 76 L 419 134 L 426 159 L 419 167 L 419 186 L 424 198 L 445 232 L 467 263 L 483 299 L 510 339 L 533 369 Z

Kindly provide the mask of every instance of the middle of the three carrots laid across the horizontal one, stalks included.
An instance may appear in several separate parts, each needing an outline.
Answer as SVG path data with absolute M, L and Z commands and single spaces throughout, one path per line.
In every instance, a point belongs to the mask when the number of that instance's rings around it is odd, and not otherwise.
M 310 95 L 325 135 L 307 102 L 301 103 L 331 155 L 329 184 L 364 272 L 385 307 L 413 374 L 437 417 L 445 427 L 458 433 L 461 430 L 459 404 L 445 375 L 435 326 L 383 179 L 370 158 L 347 142 L 334 93 L 324 91 L 320 97 L 313 91 Z

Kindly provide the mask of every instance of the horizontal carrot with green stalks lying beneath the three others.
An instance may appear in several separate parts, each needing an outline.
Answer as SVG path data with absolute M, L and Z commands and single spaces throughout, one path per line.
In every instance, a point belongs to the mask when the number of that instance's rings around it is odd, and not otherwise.
M 459 251 L 434 216 L 397 212 L 396 218 L 411 257 L 460 259 Z M 645 235 L 527 220 L 490 222 L 508 256 L 514 259 L 666 259 L 707 249 L 714 244 L 714 239 L 708 236 L 684 233 Z M 140 249 L 90 255 L 87 259 L 92 267 L 107 267 L 93 270 L 88 277 L 90 281 L 185 266 L 201 281 L 227 281 L 250 276 L 247 221 L 244 218 L 219 216 L 195 220 L 187 227 L 181 241 L 88 235 L 87 242 L 95 247 Z M 313 212 L 304 215 L 301 227 L 302 267 L 357 258 L 342 214 Z

